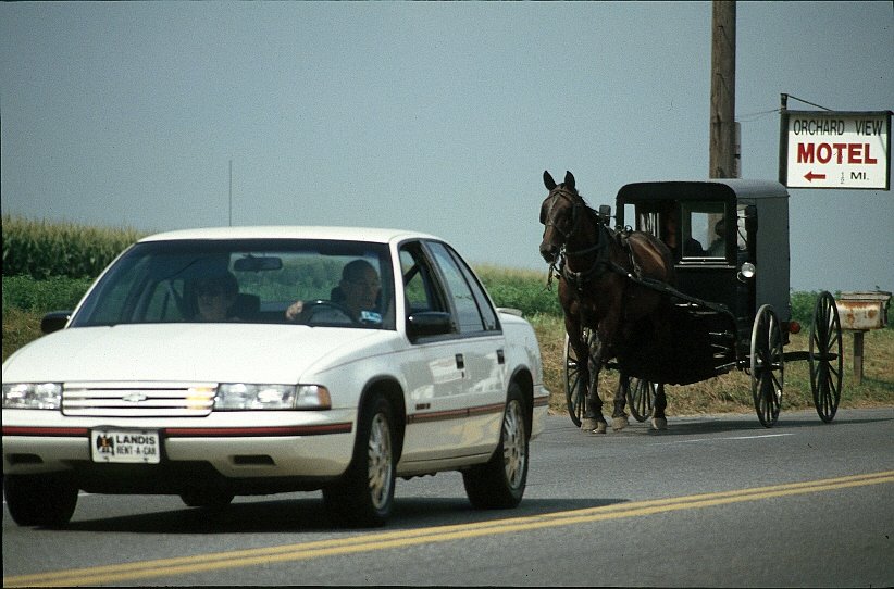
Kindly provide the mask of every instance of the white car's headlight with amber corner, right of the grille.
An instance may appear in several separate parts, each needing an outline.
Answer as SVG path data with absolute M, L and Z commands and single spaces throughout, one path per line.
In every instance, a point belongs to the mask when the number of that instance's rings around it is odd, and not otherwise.
M 258 409 L 330 409 L 326 387 L 318 385 L 252 385 L 226 383 L 218 387 L 216 411 Z

